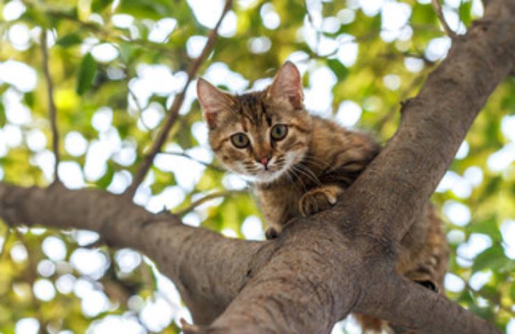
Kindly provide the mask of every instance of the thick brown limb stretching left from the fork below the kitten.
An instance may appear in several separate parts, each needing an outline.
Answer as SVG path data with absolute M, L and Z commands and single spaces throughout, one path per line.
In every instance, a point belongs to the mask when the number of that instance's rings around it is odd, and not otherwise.
M 40 189 L 0 182 L 0 217 L 11 226 L 93 230 L 111 247 L 140 250 L 177 285 L 199 324 L 218 316 L 244 285 L 248 271 L 257 271 L 276 247 L 191 228 L 176 216 L 151 214 L 123 196 L 68 190 L 61 184 Z

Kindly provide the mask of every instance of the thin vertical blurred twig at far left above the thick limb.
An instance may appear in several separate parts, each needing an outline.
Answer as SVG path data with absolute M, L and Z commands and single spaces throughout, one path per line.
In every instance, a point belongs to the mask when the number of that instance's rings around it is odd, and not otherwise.
M 41 52 L 43 55 L 43 72 L 47 80 L 47 96 L 48 96 L 48 113 L 50 118 L 50 125 L 52 127 L 52 150 L 54 150 L 54 182 L 60 182 L 57 168 L 59 166 L 59 132 L 57 129 L 56 119 L 56 104 L 54 103 L 54 84 L 52 77 L 50 77 L 50 70 L 48 66 L 48 49 L 47 49 L 47 30 L 42 29 L 40 36 Z

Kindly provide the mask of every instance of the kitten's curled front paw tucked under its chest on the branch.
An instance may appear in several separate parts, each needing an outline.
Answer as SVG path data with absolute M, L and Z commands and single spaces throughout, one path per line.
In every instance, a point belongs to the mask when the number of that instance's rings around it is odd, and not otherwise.
M 305 217 L 332 207 L 343 189 L 340 186 L 329 184 L 311 189 L 299 200 L 299 211 Z

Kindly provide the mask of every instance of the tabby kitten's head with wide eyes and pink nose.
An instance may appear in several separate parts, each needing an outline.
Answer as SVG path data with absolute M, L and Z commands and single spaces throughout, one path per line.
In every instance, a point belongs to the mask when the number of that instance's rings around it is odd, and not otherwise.
M 223 165 L 256 182 L 285 175 L 306 154 L 312 132 L 301 74 L 286 62 L 260 92 L 232 95 L 198 79 L 209 144 Z

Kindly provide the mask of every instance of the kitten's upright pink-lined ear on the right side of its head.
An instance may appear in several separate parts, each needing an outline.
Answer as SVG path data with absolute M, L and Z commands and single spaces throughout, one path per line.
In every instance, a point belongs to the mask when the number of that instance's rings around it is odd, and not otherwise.
M 302 109 L 302 79 L 297 67 L 287 61 L 280 67 L 274 82 L 268 88 L 267 96 L 271 100 L 287 100 L 294 109 Z

